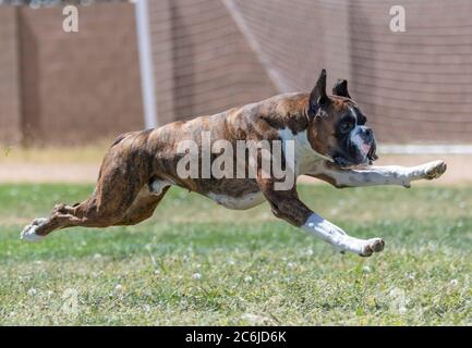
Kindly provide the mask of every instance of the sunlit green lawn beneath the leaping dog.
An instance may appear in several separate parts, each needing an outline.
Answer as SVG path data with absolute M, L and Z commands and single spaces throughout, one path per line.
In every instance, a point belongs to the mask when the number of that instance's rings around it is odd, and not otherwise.
M 19 240 L 32 219 L 92 189 L 0 186 L 0 324 L 472 323 L 472 187 L 302 186 L 349 234 L 386 240 L 368 259 L 336 253 L 266 203 L 230 211 L 177 188 L 137 226 Z

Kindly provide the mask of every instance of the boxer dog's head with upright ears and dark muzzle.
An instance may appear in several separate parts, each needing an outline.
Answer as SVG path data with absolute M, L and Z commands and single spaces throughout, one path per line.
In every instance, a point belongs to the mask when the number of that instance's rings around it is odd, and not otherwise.
M 338 80 L 332 95 L 326 94 L 326 71 L 310 94 L 308 139 L 313 149 L 341 167 L 371 164 L 377 159 L 374 132 L 351 99 L 348 82 Z

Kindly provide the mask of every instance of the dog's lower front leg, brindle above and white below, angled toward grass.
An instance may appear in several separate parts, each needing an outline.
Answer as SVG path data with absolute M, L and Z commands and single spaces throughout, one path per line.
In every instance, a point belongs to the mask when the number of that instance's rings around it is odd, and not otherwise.
M 258 178 L 258 185 L 277 217 L 322 238 L 338 250 L 370 257 L 384 249 L 383 239 L 351 237 L 340 227 L 314 213 L 299 199 L 295 187 L 290 190 L 276 190 L 271 178 Z

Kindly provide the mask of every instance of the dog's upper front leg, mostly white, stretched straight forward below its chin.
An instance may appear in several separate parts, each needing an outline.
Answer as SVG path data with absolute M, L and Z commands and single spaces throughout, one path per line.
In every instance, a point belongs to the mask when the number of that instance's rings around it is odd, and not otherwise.
M 410 187 L 411 182 L 438 178 L 446 172 L 444 161 L 434 161 L 416 166 L 368 166 L 360 170 L 340 170 L 327 164 L 320 173 L 308 174 L 327 181 L 337 187 L 400 185 Z

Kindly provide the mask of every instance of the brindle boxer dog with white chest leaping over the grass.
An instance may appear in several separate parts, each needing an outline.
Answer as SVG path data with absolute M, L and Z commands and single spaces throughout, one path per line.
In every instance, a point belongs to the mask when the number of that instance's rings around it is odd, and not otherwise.
M 274 214 L 328 241 L 340 251 L 363 257 L 384 249 L 380 238 L 359 239 L 317 215 L 296 194 L 295 185 L 275 188 L 278 178 L 264 177 L 257 167 L 254 178 L 182 178 L 177 151 L 181 140 L 202 145 L 202 132 L 213 141 L 281 140 L 294 144 L 293 172 L 328 182 L 336 187 L 401 185 L 433 179 L 446 171 L 443 161 L 413 167 L 372 166 L 375 138 L 366 117 L 340 80 L 326 94 L 326 72 L 307 92 L 279 95 L 189 122 L 119 136 L 101 164 L 94 194 L 74 206 L 58 204 L 46 219 L 24 228 L 22 238 L 45 238 L 55 229 L 84 226 L 134 225 L 153 215 L 169 186 L 177 185 L 207 196 L 231 209 L 249 209 L 267 200 Z M 287 162 L 287 158 L 283 159 Z M 237 159 L 234 158 L 234 161 Z M 247 165 L 247 163 L 244 163 Z M 258 165 L 258 164 L 257 164 Z

